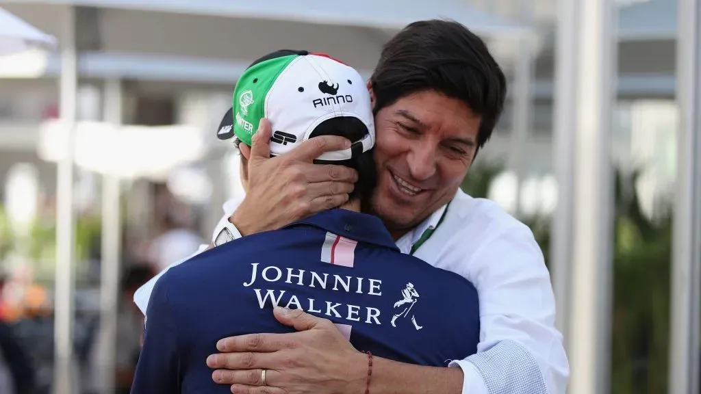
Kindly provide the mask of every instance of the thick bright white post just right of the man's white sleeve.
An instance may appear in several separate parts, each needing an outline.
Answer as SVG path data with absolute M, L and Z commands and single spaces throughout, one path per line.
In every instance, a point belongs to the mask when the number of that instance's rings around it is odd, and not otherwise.
M 579 0 L 570 392 L 609 392 L 613 253 L 613 0 Z

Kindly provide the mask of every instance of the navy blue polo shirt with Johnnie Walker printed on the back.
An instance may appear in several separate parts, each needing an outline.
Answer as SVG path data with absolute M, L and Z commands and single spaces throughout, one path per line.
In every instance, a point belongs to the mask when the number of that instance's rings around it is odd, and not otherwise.
M 477 351 L 477 290 L 402 254 L 382 222 L 329 210 L 246 236 L 175 266 L 156 283 L 132 393 L 229 393 L 212 381 L 217 341 L 294 329 L 275 305 L 332 320 L 360 351 L 446 367 Z

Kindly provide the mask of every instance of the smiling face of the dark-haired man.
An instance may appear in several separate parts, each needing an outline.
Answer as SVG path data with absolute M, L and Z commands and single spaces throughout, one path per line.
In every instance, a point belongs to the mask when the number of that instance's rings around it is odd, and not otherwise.
M 435 90 L 402 97 L 375 116 L 372 208 L 395 238 L 451 201 L 475 156 L 480 121 Z

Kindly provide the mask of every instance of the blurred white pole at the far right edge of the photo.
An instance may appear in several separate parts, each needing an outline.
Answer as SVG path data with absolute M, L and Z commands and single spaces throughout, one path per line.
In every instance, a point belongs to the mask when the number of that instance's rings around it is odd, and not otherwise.
M 676 205 L 669 393 L 699 394 L 701 366 L 701 0 L 679 0 Z

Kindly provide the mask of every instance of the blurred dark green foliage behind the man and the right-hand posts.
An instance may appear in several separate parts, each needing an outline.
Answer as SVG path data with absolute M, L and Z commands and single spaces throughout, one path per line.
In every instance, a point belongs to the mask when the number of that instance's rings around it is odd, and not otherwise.
M 462 188 L 486 197 L 499 172 L 494 166 L 473 168 Z M 611 393 L 616 394 L 667 392 L 672 210 L 661 207 L 655 220 L 644 215 L 634 189 L 640 173 L 615 172 Z M 523 221 L 547 259 L 550 218 Z

